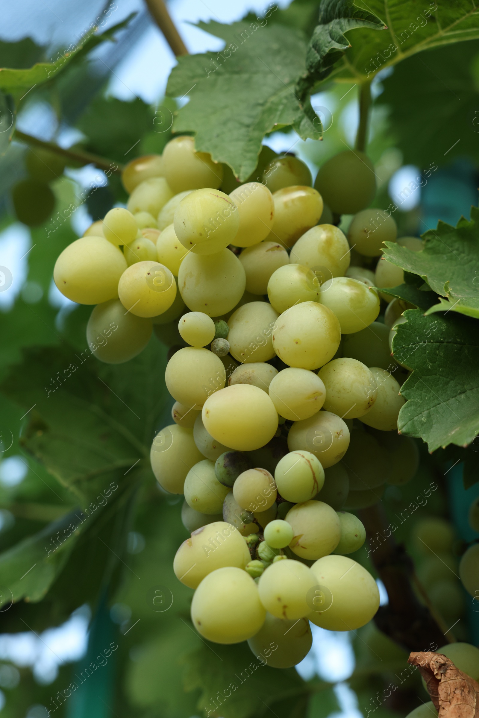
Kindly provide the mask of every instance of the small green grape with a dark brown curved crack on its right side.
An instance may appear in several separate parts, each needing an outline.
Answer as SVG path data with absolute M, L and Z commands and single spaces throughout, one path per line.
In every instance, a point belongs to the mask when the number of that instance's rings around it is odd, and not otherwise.
M 282 498 L 299 503 L 309 501 L 322 489 L 325 472 L 315 454 L 294 451 L 279 461 L 274 480 Z

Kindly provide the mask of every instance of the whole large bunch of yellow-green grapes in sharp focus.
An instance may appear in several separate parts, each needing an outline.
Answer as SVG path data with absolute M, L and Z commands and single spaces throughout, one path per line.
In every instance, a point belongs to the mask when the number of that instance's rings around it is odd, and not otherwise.
M 371 202 L 371 163 L 341 153 L 312 187 L 299 159 L 267 154 L 243 184 L 189 136 L 135 159 L 126 208 L 70 244 L 54 277 L 96 305 L 99 360 L 133 358 L 153 329 L 169 346 L 172 424 L 151 464 L 185 499 L 174 569 L 195 589 L 192 621 L 254 653 L 274 643 L 265 660 L 287 667 L 309 650 L 310 621 L 350 630 L 375 614 L 376 582 L 348 557 L 366 538 L 354 512 L 411 480 L 418 455 L 397 433 L 402 370 L 380 297 L 348 274 L 350 244 L 376 256 L 391 222 L 372 240 L 357 215 L 350 243 L 330 223 Z

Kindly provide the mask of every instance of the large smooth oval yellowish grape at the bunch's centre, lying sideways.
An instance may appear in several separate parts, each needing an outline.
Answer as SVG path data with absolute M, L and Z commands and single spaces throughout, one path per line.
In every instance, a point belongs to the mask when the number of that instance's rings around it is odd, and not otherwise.
M 211 394 L 202 418 L 212 437 L 236 451 L 263 447 L 278 428 L 278 414 L 269 396 L 248 384 L 226 386 Z

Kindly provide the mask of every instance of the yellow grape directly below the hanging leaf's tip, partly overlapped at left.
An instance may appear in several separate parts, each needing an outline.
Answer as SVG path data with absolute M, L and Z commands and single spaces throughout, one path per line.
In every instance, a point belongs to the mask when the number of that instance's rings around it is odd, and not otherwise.
M 266 239 L 274 225 L 273 195 L 259 182 L 247 182 L 231 192 L 239 216 L 236 247 L 251 247 Z

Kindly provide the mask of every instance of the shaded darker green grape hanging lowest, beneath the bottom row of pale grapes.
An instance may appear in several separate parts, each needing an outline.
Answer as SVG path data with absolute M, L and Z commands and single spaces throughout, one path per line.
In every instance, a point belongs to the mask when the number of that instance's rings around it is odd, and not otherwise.
M 312 633 L 306 618 L 284 620 L 266 612 L 259 632 L 248 640 L 258 661 L 271 668 L 292 668 L 301 663 L 312 646 Z

